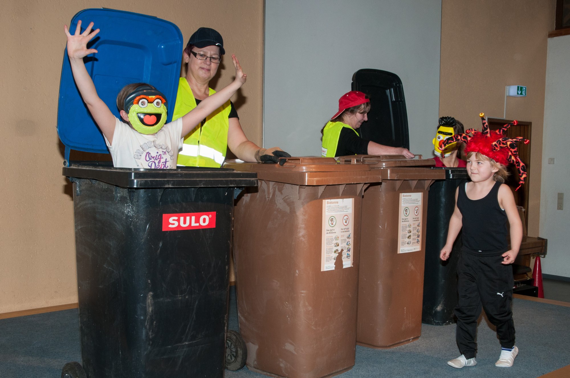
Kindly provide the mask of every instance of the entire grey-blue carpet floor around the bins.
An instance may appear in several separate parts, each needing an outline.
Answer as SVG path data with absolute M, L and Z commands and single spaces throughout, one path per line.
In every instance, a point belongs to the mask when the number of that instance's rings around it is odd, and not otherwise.
M 235 293 L 230 292 L 230 328 L 237 330 Z M 413 343 L 389 350 L 356 348 L 356 364 L 343 378 L 359 377 L 539 377 L 570 364 L 570 307 L 514 299 L 519 356 L 511 368 L 496 368 L 499 342 L 481 318 L 478 364 L 461 370 L 446 361 L 459 355 L 455 325 L 422 325 Z M 80 361 L 78 310 L 0 321 L 0 377 L 60 377 L 68 361 Z M 264 377 L 243 368 L 226 378 Z M 118 377 L 117 377 L 118 378 Z

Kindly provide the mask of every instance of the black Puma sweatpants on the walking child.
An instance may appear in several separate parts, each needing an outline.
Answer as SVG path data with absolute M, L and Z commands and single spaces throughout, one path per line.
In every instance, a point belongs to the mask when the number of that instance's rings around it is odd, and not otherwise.
M 500 345 L 515 345 L 515 325 L 512 322 L 512 266 L 503 265 L 500 256 L 476 256 L 465 248 L 457 264 L 459 302 L 457 316 L 457 345 L 466 359 L 477 354 L 477 319 L 481 306 L 489 321 L 496 326 Z

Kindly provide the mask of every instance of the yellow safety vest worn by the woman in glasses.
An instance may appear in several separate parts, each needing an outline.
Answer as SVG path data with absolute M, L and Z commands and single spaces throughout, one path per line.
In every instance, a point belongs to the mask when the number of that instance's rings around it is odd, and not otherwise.
M 210 89 L 210 96 L 215 93 Z M 172 120 L 176 120 L 196 108 L 196 98 L 185 77 L 180 78 Z M 219 168 L 226 158 L 227 132 L 230 128 L 230 100 L 206 117 L 203 125 L 197 125 L 184 137 L 182 150 L 178 152 L 179 166 Z

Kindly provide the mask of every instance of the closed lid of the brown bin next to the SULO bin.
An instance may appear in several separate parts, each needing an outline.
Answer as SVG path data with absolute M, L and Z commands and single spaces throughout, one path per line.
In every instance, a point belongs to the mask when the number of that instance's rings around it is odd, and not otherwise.
M 381 172 L 370 170 L 367 164 L 345 162 L 335 158 L 291 157 L 283 165 L 268 163 L 247 163 L 229 160 L 224 168 L 236 171 L 257 172 L 259 180 L 296 185 L 335 185 L 380 182 Z

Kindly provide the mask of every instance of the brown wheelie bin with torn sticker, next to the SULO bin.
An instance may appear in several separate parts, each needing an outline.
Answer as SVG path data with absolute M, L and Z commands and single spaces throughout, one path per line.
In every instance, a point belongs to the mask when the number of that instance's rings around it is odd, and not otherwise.
M 234 212 L 239 331 L 247 367 L 274 377 L 320 378 L 355 364 L 362 194 L 367 165 L 287 158 L 257 172 Z

